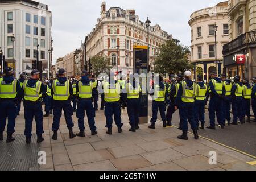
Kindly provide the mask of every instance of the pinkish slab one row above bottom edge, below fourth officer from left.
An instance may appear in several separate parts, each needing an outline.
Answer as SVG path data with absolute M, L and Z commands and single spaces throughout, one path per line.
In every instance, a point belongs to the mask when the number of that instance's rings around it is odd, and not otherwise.
M 78 164 L 86 164 L 99 162 L 102 160 L 113 159 L 114 156 L 110 154 L 108 150 L 97 150 L 97 151 L 88 151 L 82 154 L 70 154 L 71 163 L 73 166 Z

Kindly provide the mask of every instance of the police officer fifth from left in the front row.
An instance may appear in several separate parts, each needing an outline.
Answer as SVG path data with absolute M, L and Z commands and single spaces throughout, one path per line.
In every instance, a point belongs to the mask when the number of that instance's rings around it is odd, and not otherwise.
M 113 114 L 115 125 L 117 125 L 118 133 L 122 133 L 122 119 L 120 109 L 120 92 L 121 85 L 114 79 L 114 74 L 110 73 L 109 80 L 104 82 L 103 90 L 105 94 L 105 117 L 106 117 L 106 131 L 107 134 L 112 135 Z

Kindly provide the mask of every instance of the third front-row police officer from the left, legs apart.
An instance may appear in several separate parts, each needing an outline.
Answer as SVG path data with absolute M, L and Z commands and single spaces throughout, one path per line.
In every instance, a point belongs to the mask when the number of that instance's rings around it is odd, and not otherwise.
M 75 138 L 73 133 L 74 123 L 72 121 L 72 105 L 71 96 L 73 95 L 73 88 L 71 82 L 65 77 L 65 69 L 59 69 L 58 78 L 53 81 L 52 84 L 52 96 L 53 96 L 53 124 L 52 135 L 53 140 L 57 140 L 57 131 L 60 127 L 60 117 L 62 110 L 64 110 L 65 120 L 69 130 L 69 138 Z

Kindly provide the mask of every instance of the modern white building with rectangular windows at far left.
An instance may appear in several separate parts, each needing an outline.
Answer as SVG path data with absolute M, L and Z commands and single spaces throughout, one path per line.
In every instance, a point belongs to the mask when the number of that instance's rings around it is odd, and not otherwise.
M 42 61 L 43 76 L 49 77 L 52 61 L 52 13 L 48 6 L 30 0 L 0 1 L 0 47 L 15 76 L 32 71 L 32 60 L 36 60 L 39 45 L 39 61 Z

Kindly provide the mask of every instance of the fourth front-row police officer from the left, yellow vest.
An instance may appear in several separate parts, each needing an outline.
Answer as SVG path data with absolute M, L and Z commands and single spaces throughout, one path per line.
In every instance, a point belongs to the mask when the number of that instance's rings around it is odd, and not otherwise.
M 88 78 L 88 72 L 82 71 L 81 80 L 79 80 L 76 84 L 77 90 L 77 111 L 76 117 L 78 118 L 78 124 L 80 133 L 76 134 L 78 137 L 85 137 L 85 126 L 84 126 L 84 117 L 85 111 L 88 118 L 88 123 L 90 127 L 90 131 L 92 135 L 96 135 L 96 126 L 94 121 L 95 110 L 92 104 L 92 92 L 93 92 L 93 82 Z

